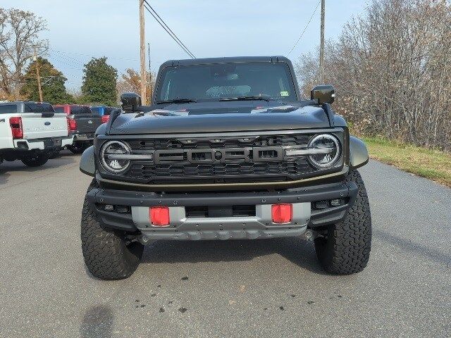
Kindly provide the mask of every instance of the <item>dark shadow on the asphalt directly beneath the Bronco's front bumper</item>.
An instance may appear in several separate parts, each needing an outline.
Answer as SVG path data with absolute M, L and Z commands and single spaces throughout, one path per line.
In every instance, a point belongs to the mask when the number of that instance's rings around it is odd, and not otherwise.
M 328 275 L 316 259 L 314 245 L 299 237 L 230 240 L 168 241 L 159 240 L 146 246 L 142 263 L 200 263 L 252 261 L 277 253 L 288 261 L 319 275 Z

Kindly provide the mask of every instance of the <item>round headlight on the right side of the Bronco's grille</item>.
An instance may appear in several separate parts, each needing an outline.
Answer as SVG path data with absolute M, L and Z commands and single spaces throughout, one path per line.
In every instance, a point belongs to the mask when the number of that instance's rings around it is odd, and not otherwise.
M 341 154 L 340 142 L 331 134 L 319 134 L 313 137 L 309 142 L 309 149 L 312 150 L 309 161 L 311 165 L 319 169 L 335 165 Z

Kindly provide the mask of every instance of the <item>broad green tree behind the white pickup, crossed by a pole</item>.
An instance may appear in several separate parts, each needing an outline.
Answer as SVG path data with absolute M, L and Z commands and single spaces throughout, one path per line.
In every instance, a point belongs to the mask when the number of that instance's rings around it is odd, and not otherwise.
M 72 101 L 72 96 L 66 92 L 66 77 L 47 60 L 47 58 L 37 58 L 39 63 L 39 76 L 42 84 L 42 99 L 50 104 L 67 104 Z M 39 89 L 37 87 L 36 61 L 28 65 L 25 75 L 23 75 L 23 86 L 20 94 L 27 100 L 39 101 Z

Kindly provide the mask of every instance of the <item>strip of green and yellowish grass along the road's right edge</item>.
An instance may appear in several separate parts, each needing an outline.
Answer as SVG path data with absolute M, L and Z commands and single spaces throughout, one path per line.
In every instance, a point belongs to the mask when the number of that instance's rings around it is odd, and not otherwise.
M 451 187 L 451 154 L 387 139 L 363 139 L 371 158 Z

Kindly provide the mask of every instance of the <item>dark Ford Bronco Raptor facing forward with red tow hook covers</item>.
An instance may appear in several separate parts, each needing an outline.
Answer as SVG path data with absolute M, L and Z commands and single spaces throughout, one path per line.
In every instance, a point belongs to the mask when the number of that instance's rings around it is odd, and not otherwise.
M 94 177 L 81 221 L 89 271 L 129 277 L 154 239 L 290 236 L 313 240 L 328 273 L 362 271 L 368 152 L 334 96 L 322 85 L 302 100 L 281 56 L 163 63 L 152 105 L 123 94 L 82 154 Z

